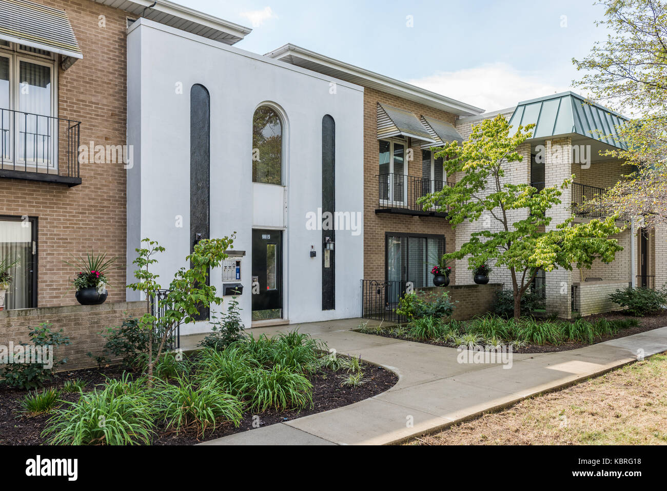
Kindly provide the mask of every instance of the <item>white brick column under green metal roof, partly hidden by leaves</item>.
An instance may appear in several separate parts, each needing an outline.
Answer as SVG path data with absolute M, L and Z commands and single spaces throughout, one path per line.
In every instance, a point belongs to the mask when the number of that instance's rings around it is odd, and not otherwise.
M 556 145 L 560 145 L 560 151 Z M 547 140 L 544 161 L 544 185 L 546 187 L 559 186 L 572 174 L 572 141 L 570 137 Z M 554 205 L 547 211 L 552 217 L 547 230 L 556 228 L 570 217 L 572 203 L 571 187 L 562 190 L 560 205 Z M 570 292 L 572 287 L 572 272 L 559 268 L 546 273 L 546 311 L 547 314 L 557 314 L 562 318 L 572 317 Z

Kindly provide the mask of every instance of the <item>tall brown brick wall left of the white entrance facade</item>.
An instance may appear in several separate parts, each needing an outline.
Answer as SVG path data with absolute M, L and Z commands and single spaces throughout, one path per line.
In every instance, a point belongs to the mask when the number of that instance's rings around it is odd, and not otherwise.
M 59 69 L 59 117 L 81 121 L 81 144 L 124 145 L 126 14 L 90 0 L 39 2 L 67 12 L 83 51 L 67 71 Z M 0 179 L 0 215 L 39 218 L 38 306 L 76 303 L 74 292 L 67 292 L 74 272 L 62 262 L 70 253 L 107 252 L 124 263 L 125 172 L 122 164 L 81 164 L 83 183 L 75 187 Z M 109 279 L 109 301 L 125 300 L 125 270 Z

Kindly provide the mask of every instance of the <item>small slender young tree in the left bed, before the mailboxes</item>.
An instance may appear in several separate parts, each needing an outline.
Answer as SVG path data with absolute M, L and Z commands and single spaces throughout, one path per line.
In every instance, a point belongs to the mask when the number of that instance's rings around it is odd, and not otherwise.
M 175 326 L 195 322 L 200 308 L 209 308 L 211 305 L 219 305 L 222 298 L 217 296 L 215 286 L 207 285 L 209 272 L 217 268 L 227 258 L 225 252 L 231 248 L 235 239 L 235 233 L 231 237 L 221 239 L 205 239 L 195 245 L 192 254 L 187 256 L 186 261 L 190 269 L 179 269 L 169 284 L 167 296 L 159 300 L 159 307 L 164 310 L 163 316 L 157 319 L 150 312 L 150 297 L 159 290 L 161 286 L 157 283 L 159 275 L 151 272 L 151 265 L 157 262 L 155 255 L 164 252 L 165 248 L 159 246 L 156 241 L 143 239 L 144 248 L 137 248 L 137 259 L 133 264 L 139 266 L 135 271 L 137 282 L 130 284 L 127 288 L 143 292 L 146 296 L 147 313 L 139 319 L 139 328 L 149 330 L 147 372 L 149 380 L 152 381 L 153 369 L 159 361 L 165 342 L 171 336 Z M 153 356 L 153 330 L 160 336 L 157 353 Z

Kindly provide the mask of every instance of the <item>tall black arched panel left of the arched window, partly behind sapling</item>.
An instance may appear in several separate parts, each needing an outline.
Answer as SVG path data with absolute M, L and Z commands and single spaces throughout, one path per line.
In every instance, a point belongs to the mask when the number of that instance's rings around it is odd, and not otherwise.
M 197 83 L 190 89 L 190 252 L 197 241 L 210 237 L 210 177 L 211 97 Z M 199 308 L 197 320 L 208 318 L 209 309 Z

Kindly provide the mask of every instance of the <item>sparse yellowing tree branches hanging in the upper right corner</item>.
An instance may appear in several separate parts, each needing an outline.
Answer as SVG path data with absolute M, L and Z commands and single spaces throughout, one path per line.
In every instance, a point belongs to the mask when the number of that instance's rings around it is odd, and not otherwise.
M 632 118 L 609 135 L 626 143 L 602 155 L 624 161 L 628 173 L 606 193 L 584 203 L 588 211 L 642 216 L 645 226 L 667 224 L 667 7 L 661 0 L 603 0 L 598 26 L 611 32 L 584 59 L 574 85 Z

